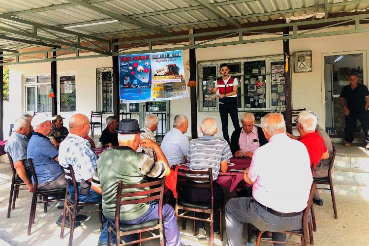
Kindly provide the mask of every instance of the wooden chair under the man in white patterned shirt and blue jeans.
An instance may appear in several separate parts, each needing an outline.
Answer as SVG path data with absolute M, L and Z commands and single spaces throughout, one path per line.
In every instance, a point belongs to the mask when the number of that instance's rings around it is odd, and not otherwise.
M 74 234 L 74 223 L 76 220 L 77 215 L 82 214 L 88 214 L 88 213 L 94 213 L 99 212 L 99 225 L 100 225 L 100 231 L 102 230 L 102 207 L 101 204 L 98 203 L 87 203 L 87 202 L 81 202 L 78 200 L 78 188 L 77 188 L 77 181 L 74 176 L 74 170 L 72 166 L 68 166 L 67 168 L 64 168 L 64 175 L 65 177 L 70 176 L 72 179 L 72 184 L 74 187 L 74 197 L 68 194 L 68 188 L 66 188 L 65 192 L 65 199 L 64 199 L 64 209 L 63 209 L 63 218 L 62 218 L 62 228 L 60 230 L 60 238 L 64 238 L 64 228 L 65 228 L 65 219 L 66 215 L 69 216 L 69 225 L 70 225 L 70 233 L 69 233 L 69 246 L 72 246 L 73 243 L 73 234 Z M 67 180 L 67 182 L 70 182 L 70 180 Z M 75 202 L 77 201 L 77 202 Z M 88 211 L 85 213 L 78 213 L 78 208 L 84 207 L 84 206 L 95 206 L 98 205 L 98 210 Z

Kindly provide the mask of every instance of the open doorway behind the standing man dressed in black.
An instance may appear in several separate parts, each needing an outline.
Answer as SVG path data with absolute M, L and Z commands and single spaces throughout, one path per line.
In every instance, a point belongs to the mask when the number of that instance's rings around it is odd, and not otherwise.
M 345 119 L 339 95 L 342 88 L 350 84 L 350 74 L 357 74 L 360 78 L 359 83 L 364 83 L 363 58 L 363 53 L 324 57 L 325 126 L 331 137 L 344 138 Z M 354 137 L 364 139 L 360 122 L 357 124 Z

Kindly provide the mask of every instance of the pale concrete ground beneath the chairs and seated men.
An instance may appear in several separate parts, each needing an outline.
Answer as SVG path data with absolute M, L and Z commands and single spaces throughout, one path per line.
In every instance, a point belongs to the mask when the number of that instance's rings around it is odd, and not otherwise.
M 11 169 L 8 163 L 0 163 L 0 245 L 1 246 L 66 246 L 68 245 L 69 229 L 66 228 L 64 238 L 60 239 L 60 227 L 55 221 L 62 210 L 57 209 L 57 203 L 50 203 L 48 213 L 44 213 L 40 204 L 36 209 L 35 223 L 32 225 L 31 236 L 27 236 L 28 220 L 30 215 L 31 193 L 25 190 L 19 192 L 15 210 L 11 211 L 10 218 L 6 218 Z M 225 188 L 226 201 L 236 197 L 235 192 L 229 193 Z M 369 245 L 369 202 L 363 197 L 336 195 L 338 219 L 334 218 L 331 196 L 323 193 L 323 206 L 315 206 L 317 232 L 314 232 L 315 246 L 364 246 Z M 84 210 L 87 210 L 85 208 Z M 92 208 L 93 209 L 93 208 Z M 87 214 L 89 218 L 74 231 L 73 245 L 95 246 L 100 234 L 98 216 L 96 213 Z M 224 221 L 224 220 L 223 220 Z M 208 241 L 198 241 L 192 234 L 192 221 L 187 221 L 186 230 L 182 231 L 182 221 L 178 221 L 182 242 L 186 245 L 208 245 Z M 214 240 L 215 246 L 226 245 L 226 230 L 224 240 Z M 209 232 L 209 226 L 207 225 Z M 244 226 L 244 243 L 247 241 L 247 228 Z M 288 242 L 299 242 L 297 236 L 287 236 Z M 255 239 L 253 238 L 255 245 Z M 148 241 L 143 246 L 159 246 L 159 241 Z M 245 245 L 245 244 L 244 244 Z M 263 243 L 263 246 L 272 244 Z

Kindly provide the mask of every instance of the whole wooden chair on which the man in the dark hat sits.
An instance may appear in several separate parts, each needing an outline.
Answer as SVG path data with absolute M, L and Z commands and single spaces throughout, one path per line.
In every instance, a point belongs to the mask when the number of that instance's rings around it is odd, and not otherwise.
M 155 185 L 160 185 L 159 187 L 153 188 Z M 163 197 L 164 197 L 164 186 L 165 186 L 165 177 L 162 180 L 143 183 L 143 184 L 123 184 L 122 181 L 118 182 L 118 191 L 117 191 L 117 202 L 115 208 L 115 222 L 113 223 L 111 220 L 108 220 L 108 246 L 111 246 L 111 233 L 115 233 L 116 235 L 116 245 L 130 245 L 139 243 L 141 246 L 141 242 L 149 241 L 152 239 L 159 238 L 160 246 L 164 246 L 164 235 L 163 235 L 163 215 L 162 215 L 162 207 L 163 207 Z M 142 188 L 147 190 L 138 191 L 138 192 L 124 192 L 127 189 L 132 188 Z M 123 191 L 123 192 L 122 192 Z M 144 198 L 138 197 L 145 196 Z M 135 225 L 127 225 L 120 223 L 120 214 L 121 214 L 121 206 L 129 205 L 129 204 L 138 204 L 138 203 L 147 203 L 149 201 L 159 200 L 159 219 L 147 221 L 142 224 Z M 152 230 L 159 229 L 159 235 L 155 235 L 152 233 Z M 142 232 L 150 231 L 152 236 L 142 238 Z M 136 241 L 132 241 L 129 243 L 121 244 L 121 237 L 125 235 L 139 233 L 139 239 Z

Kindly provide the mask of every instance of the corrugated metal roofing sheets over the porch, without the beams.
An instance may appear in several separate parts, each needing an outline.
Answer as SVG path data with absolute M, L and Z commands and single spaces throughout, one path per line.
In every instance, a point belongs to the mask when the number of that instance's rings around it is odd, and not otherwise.
M 56 40 L 75 38 L 75 35 L 63 30 L 106 39 L 124 40 L 141 36 L 147 38 L 157 35 L 158 30 L 176 35 L 176 32 L 189 29 L 216 30 L 224 26 L 232 27 L 230 23 L 233 21 L 242 27 L 258 22 L 264 25 L 262 23 L 267 21 L 269 24 L 280 23 L 280 18 L 325 12 L 325 0 L 84 0 L 80 2 L 0 0 L 0 12 L 3 14 L 0 16 L 0 37 L 1 35 L 22 37 L 14 31 L 26 30 L 32 33 L 32 25 L 22 23 L 22 20 L 61 28 L 62 31 L 59 32 L 39 30 L 37 34 L 40 36 L 38 38 L 40 42 L 45 42 L 41 37 Z M 203 5 L 204 2 L 211 7 Z M 82 3 L 90 5 L 85 6 Z M 95 9 L 96 7 L 98 9 Z M 365 11 L 368 8 L 369 0 L 328 0 L 327 12 L 355 12 Z M 8 16 L 18 18 L 20 22 L 3 18 Z M 114 20 L 116 21 L 114 23 L 99 24 Z M 71 28 L 71 26 L 76 27 Z M 4 31 L 1 28 L 11 31 Z M 233 25 L 232 28 L 236 27 Z M 37 37 L 22 38 L 30 41 L 37 40 Z M 39 45 L 0 39 L 0 49 L 19 50 L 37 46 Z

